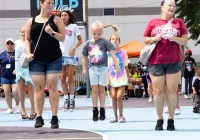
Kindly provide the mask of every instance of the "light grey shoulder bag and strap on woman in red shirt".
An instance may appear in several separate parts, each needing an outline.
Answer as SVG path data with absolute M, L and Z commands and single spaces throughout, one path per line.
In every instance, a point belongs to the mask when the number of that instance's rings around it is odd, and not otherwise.
M 166 26 L 162 29 L 161 31 L 161 35 L 167 30 L 167 28 L 171 25 L 173 21 L 173 18 L 170 19 Z M 148 44 L 146 45 L 141 51 L 140 51 L 140 62 L 143 64 L 143 65 L 147 65 L 147 63 L 149 62 L 149 59 L 154 51 L 154 49 L 156 48 L 156 45 L 157 45 L 158 42 L 154 42 L 152 44 Z

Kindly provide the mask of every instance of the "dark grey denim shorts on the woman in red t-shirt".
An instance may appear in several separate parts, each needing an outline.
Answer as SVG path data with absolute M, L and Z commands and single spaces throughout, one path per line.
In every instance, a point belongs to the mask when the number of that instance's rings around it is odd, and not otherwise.
M 176 62 L 172 64 L 155 64 L 148 65 L 148 72 L 154 76 L 163 76 L 166 74 L 174 74 L 182 69 L 181 62 Z

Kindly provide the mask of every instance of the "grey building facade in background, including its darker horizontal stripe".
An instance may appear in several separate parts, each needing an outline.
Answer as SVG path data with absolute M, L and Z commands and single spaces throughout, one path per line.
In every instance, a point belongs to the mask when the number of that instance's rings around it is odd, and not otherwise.
M 63 0 L 64 1 L 64 0 Z M 19 28 L 30 18 L 30 0 L 0 0 L 0 52 L 5 49 L 7 38 L 19 39 Z M 161 0 L 88 0 L 89 25 L 98 20 L 103 24 L 115 24 L 120 28 L 121 45 L 131 40 L 143 42 L 143 32 L 151 18 L 159 17 Z M 80 27 L 83 44 L 86 41 L 85 28 Z M 103 37 L 113 34 L 112 28 L 104 30 Z M 91 36 L 90 36 L 91 37 Z M 190 40 L 188 46 L 193 51 L 195 59 L 199 60 L 198 46 Z

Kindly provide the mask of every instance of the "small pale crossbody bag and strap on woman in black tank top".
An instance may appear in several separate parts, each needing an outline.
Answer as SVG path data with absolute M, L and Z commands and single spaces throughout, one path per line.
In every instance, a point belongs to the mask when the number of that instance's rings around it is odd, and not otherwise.
M 50 18 L 50 17 L 51 17 L 51 16 L 49 16 L 49 18 Z M 49 20 L 49 18 L 47 19 L 47 21 Z M 44 25 L 43 25 L 43 27 L 42 27 L 42 29 L 41 29 L 41 32 L 40 32 L 40 35 L 39 35 L 39 38 L 38 38 L 38 41 L 37 41 L 37 44 L 36 44 L 36 46 L 35 46 L 35 49 L 34 49 L 33 54 L 35 53 L 35 50 L 36 50 L 36 48 L 37 48 L 37 46 L 38 46 L 38 43 L 39 43 L 39 41 L 40 41 L 42 32 L 43 32 L 43 30 L 44 30 L 44 27 L 45 27 L 47 21 L 44 23 Z M 27 54 L 26 54 L 26 53 L 22 53 L 22 54 L 20 55 L 20 57 L 19 57 L 19 64 L 22 66 L 22 68 L 28 68 L 28 66 L 29 66 L 29 61 L 28 61 L 28 59 L 27 59 Z

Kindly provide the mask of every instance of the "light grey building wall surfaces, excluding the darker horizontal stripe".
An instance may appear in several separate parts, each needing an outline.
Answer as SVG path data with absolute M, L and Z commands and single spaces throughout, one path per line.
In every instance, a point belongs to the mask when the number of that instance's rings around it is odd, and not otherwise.
M 159 7 L 161 0 L 89 0 L 89 9 L 95 8 L 140 8 L 140 7 Z M 0 52 L 5 49 L 5 40 L 9 37 L 19 39 L 19 28 L 25 25 L 30 13 L 30 0 L 0 0 Z M 22 17 L 7 18 L 4 12 L 7 10 L 27 10 L 29 13 L 22 13 Z M 92 13 L 91 13 L 92 14 Z M 94 13 L 95 14 L 95 13 Z M 98 13 L 99 14 L 99 13 Z M 100 13 L 101 14 L 101 13 Z M 120 15 L 120 16 L 89 16 L 89 25 L 99 20 L 104 24 L 116 24 L 120 28 L 121 45 L 131 41 L 138 40 L 143 42 L 143 32 L 148 21 L 153 17 L 159 17 L 160 13 L 153 15 Z M 3 17 L 3 18 L 2 18 Z M 82 47 L 85 44 L 85 29 L 80 28 L 83 38 L 83 44 L 77 50 L 76 55 L 81 57 Z M 113 34 L 112 28 L 104 30 L 103 37 L 109 38 Z M 91 37 L 91 36 L 90 36 Z M 194 47 L 195 41 L 190 40 L 188 45 L 194 55 L 199 55 L 199 48 Z M 197 57 L 197 59 L 200 59 Z M 200 61 L 200 60 L 199 60 Z

